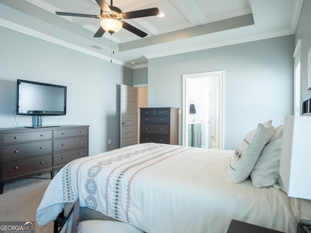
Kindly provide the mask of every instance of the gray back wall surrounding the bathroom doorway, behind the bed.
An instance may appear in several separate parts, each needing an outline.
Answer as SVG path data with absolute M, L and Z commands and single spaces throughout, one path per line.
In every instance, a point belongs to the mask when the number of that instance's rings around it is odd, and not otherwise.
M 225 70 L 224 149 L 259 122 L 293 114 L 294 35 L 148 60 L 148 106 L 182 108 L 182 75 Z M 182 118 L 179 118 L 179 144 Z

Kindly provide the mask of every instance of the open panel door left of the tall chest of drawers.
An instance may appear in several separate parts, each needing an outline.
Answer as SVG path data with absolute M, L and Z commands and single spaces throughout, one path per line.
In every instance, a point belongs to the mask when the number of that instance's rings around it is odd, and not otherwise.
M 121 84 L 121 147 L 137 144 L 137 88 Z

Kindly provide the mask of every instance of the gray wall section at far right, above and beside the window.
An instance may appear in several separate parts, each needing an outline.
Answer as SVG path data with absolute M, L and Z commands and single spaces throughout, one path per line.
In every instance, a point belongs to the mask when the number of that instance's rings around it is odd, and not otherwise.
M 302 100 L 311 96 L 311 90 L 308 90 L 308 50 L 311 46 L 311 1 L 304 1 L 300 12 L 296 32 L 295 45 L 298 39 L 301 39 L 301 94 Z M 311 61 L 309 61 L 311 62 Z M 311 72 L 311 71 L 309 71 Z

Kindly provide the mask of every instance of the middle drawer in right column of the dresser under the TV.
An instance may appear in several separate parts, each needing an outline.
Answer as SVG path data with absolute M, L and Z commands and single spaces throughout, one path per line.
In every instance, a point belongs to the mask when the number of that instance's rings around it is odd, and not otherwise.
M 88 146 L 88 137 L 73 137 L 54 140 L 54 152 L 72 150 Z

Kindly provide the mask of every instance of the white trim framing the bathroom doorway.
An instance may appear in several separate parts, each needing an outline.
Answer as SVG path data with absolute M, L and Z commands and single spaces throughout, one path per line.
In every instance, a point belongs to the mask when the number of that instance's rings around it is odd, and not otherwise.
M 224 78 L 225 71 L 210 71 L 210 72 L 202 72 L 202 73 L 194 73 L 194 74 L 184 74 L 183 75 L 183 113 L 182 113 L 182 145 L 185 146 L 186 140 L 188 139 L 188 127 L 187 127 L 187 119 L 186 119 L 186 109 L 187 106 L 187 79 L 189 78 L 203 78 L 203 77 L 211 77 L 211 76 L 219 76 L 219 149 L 224 149 Z

